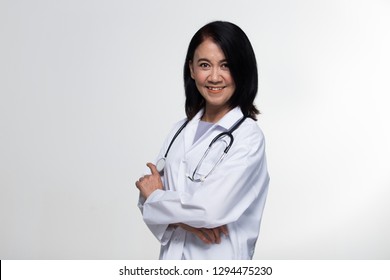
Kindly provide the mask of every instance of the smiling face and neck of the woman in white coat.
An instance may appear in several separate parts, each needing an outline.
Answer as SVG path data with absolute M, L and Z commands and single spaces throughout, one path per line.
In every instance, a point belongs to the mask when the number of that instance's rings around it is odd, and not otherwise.
M 203 41 L 190 61 L 191 77 L 206 101 L 207 110 L 228 111 L 236 85 L 221 48 L 211 39 Z

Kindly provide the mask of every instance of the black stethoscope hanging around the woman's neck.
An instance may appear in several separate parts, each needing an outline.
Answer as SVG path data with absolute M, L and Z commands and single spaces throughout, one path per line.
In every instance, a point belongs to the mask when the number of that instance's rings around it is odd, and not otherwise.
M 187 175 L 187 178 L 190 179 L 191 181 L 193 182 L 203 182 L 215 169 L 215 167 L 217 167 L 218 164 L 221 163 L 221 161 L 226 157 L 228 151 L 230 150 L 230 147 L 233 145 L 233 141 L 234 141 L 234 137 L 233 137 L 233 131 L 235 131 L 246 119 L 247 117 L 244 116 L 242 117 L 236 124 L 234 124 L 228 131 L 225 131 L 225 132 L 222 132 L 220 134 L 218 134 L 217 136 L 214 137 L 214 139 L 210 142 L 207 150 L 205 151 L 205 153 L 203 154 L 202 158 L 200 159 L 198 165 L 195 167 L 195 170 L 194 172 L 192 173 L 192 175 Z M 164 155 L 164 157 L 160 158 L 157 163 L 156 163 L 156 167 L 157 167 L 157 170 L 160 172 L 160 174 L 163 173 L 164 171 L 164 168 L 165 168 L 165 162 L 166 162 L 166 158 L 168 156 L 168 152 L 169 150 L 171 149 L 171 146 L 173 144 L 173 142 L 175 142 L 177 136 L 179 136 L 179 134 L 182 132 L 182 130 L 186 127 L 186 125 L 188 124 L 189 120 L 186 120 L 183 125 L 176 131 L 175 135 L 173 136 L 171 142 L 169 143 L 169 146 L 168 146 L 168 149 Z M 203 160 L 206 158 L 207 154 L 209 153 L 211 147 L 214 145 L 215 142 L 217 142 L 219 139 L 223 138 L 227 136 L 229 138 L 229 144 L 226 146 L 226 148 L 224 149 L 223 151 L 223 154 L 221 155 L 221 157 L 218 159 L 218 161 L 216 162 L 216 164 L 214 165 L 214 167 L 206 174 L 206 175 L 203 175 L 201 177 L 198 177 L 196 178 L 195 175 L 197 173 L 197 171 L 199 170 L 200 166 L 202 165 L 203 163 Z

